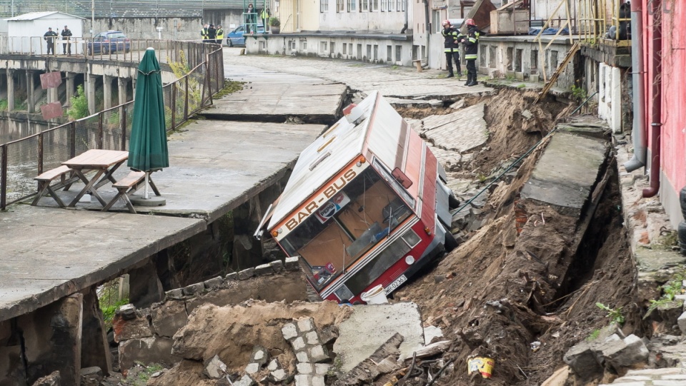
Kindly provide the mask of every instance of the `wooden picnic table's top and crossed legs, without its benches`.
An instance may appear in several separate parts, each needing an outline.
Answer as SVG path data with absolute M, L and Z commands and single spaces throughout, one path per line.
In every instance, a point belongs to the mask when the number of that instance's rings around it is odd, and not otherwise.
M 71 158 L 69 161 L 64 161 L 62 165 L 74 169 L 76 176 L 85 184 L 84 188 L 81 189 L 81 192 L 76 195 L 76 198 L 74 198 L 68 206 L 75 206 L 76 203 L 81 200 L 81 197 L 88 192 L 94 195 L 102 206 L 106 206 L 107 202 L 98 193 L 98 188 L 108 181 L 116 183 L 116 180 L 112 177 L 112 173 L 114 173 L 114 171 L 116 171 L 116 169 L 127 159 L 129 159 L 128 151 L 91 149 L 85 153 L 81 153 L 79 156 Z M 85 174 L 89 171 L 96 172 L 90 179 L 86 177 Z

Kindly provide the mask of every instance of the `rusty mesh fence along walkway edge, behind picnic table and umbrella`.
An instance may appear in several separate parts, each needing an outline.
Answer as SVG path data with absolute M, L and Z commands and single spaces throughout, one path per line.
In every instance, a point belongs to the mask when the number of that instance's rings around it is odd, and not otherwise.
M 219 46 L 179 42 L 172 44 L 179 60 L 182 46 L 190 48 L 187 74 L 163 87 L 167 131 L 188 120 L 197 111 L 212 105 L 212 95 L 224 88 L 224 61 Z M 204 60 L 191 67 L 193 56 Z M 168 56 L 174 57 L 174 56 Z M 0 209 L 36 194 L 34 177 L 56 168 L 90 148 L 128 150 L 134 101 L 109 108 L 92 116 L 50 128 L 26 138 L 0 145 Z

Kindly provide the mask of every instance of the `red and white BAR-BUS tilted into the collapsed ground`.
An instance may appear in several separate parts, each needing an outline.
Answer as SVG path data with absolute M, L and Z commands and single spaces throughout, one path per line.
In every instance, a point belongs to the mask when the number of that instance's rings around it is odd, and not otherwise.
M 446 247 L 452 192 L 427 143 L 374 92 L 299 156 L 256 236 L 267 231 L 298 256 L 326 300 L 388 295 Z M 447 244 L 447 245 L 446 245 Z

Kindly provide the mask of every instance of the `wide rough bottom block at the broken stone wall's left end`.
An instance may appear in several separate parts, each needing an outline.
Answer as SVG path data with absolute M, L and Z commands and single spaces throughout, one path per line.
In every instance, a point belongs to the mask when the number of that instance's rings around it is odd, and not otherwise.
M 169 337 L 144 337 L 131 339 L 119 343 L 119 367 L 125 373 L 135 365 L 141 363 L 160 363 L 172 366 L 181 358 L 172 355 L 174 340 Z

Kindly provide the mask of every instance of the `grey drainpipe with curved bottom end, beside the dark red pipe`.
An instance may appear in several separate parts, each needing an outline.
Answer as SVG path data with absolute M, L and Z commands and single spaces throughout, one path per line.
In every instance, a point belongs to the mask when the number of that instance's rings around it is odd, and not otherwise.
M 645 166 L 645 87 L 643 83 L 643 16 L 640 1 L 631 3 L 631 68 L 634 92 L 634 122 L 631 138 L 634 156 L 624 164 L 628 172 Z

